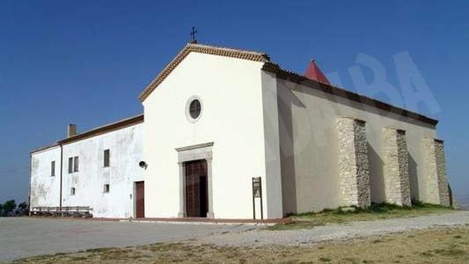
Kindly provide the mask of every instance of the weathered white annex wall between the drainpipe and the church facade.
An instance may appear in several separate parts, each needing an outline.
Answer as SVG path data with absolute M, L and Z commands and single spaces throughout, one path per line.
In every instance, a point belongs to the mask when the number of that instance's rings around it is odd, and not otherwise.
M 94 217 L 134 217 L 134 182 L 143 180 L 142 124 L 64 145 L 63 206 L 91 206 Z M 104 168 L 104 150 L 110 165 Z M 77 173 L 68 173 L 68 158 L 80 157 Z M 110 184 L 104 193 L 104 184 Z M 75 187 L 75 195 L 71 188 Z

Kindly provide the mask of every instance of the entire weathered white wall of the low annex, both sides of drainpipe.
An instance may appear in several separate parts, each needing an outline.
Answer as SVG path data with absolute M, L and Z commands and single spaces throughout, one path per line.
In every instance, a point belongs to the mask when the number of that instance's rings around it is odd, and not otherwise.
M 134 182 L 143 180 L 142 124 L 82 139 L 63 146 L 62 206 L 91 206 L 94 217 L 134 217 Z M 104 168 L 104 150 L 110 165 Z M 68 158 L 79 157 L 79 171 L 68 173 Z M 31 201 L 33 206 L 59 206 L 60 149 L 33 154 Z M 50 177 L 50 159 L 57 159 L 56 176 Z M 110 184 L 104 193 L 104 184 Z M 75 187 L 75 195 L 71 188 Z M 44 189 L 44 191 L 42 191 Z M 34 201 L 34 202 L 33 202 Z

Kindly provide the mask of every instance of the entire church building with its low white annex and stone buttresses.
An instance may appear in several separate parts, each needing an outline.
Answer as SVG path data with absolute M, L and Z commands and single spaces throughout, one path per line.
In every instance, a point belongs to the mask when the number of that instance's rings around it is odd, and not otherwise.
M 413 201 L 450 205 L 438 121 L 266 53 L 187 44 L 143 114 L 30 153 L 30 206 L 97 218 L 277 219 Z

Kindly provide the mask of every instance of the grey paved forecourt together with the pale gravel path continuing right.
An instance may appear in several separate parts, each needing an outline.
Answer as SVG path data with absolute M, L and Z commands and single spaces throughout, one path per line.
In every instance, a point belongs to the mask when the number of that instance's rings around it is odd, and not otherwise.
M 0 218 L 0 262 L 99 247 L 187 240 L 231 246 L 307 245 L 454 225 L 469 225 L 469 211 L 284 231 L 269 231 L 252 225 Z

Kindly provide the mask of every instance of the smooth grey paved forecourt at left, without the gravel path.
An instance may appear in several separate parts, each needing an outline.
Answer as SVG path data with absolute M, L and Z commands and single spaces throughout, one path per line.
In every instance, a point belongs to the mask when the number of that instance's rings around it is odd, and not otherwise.
M 0 218 L 0 261 L 99 247 L 193 240 L 252 228 L 249 225 Z

